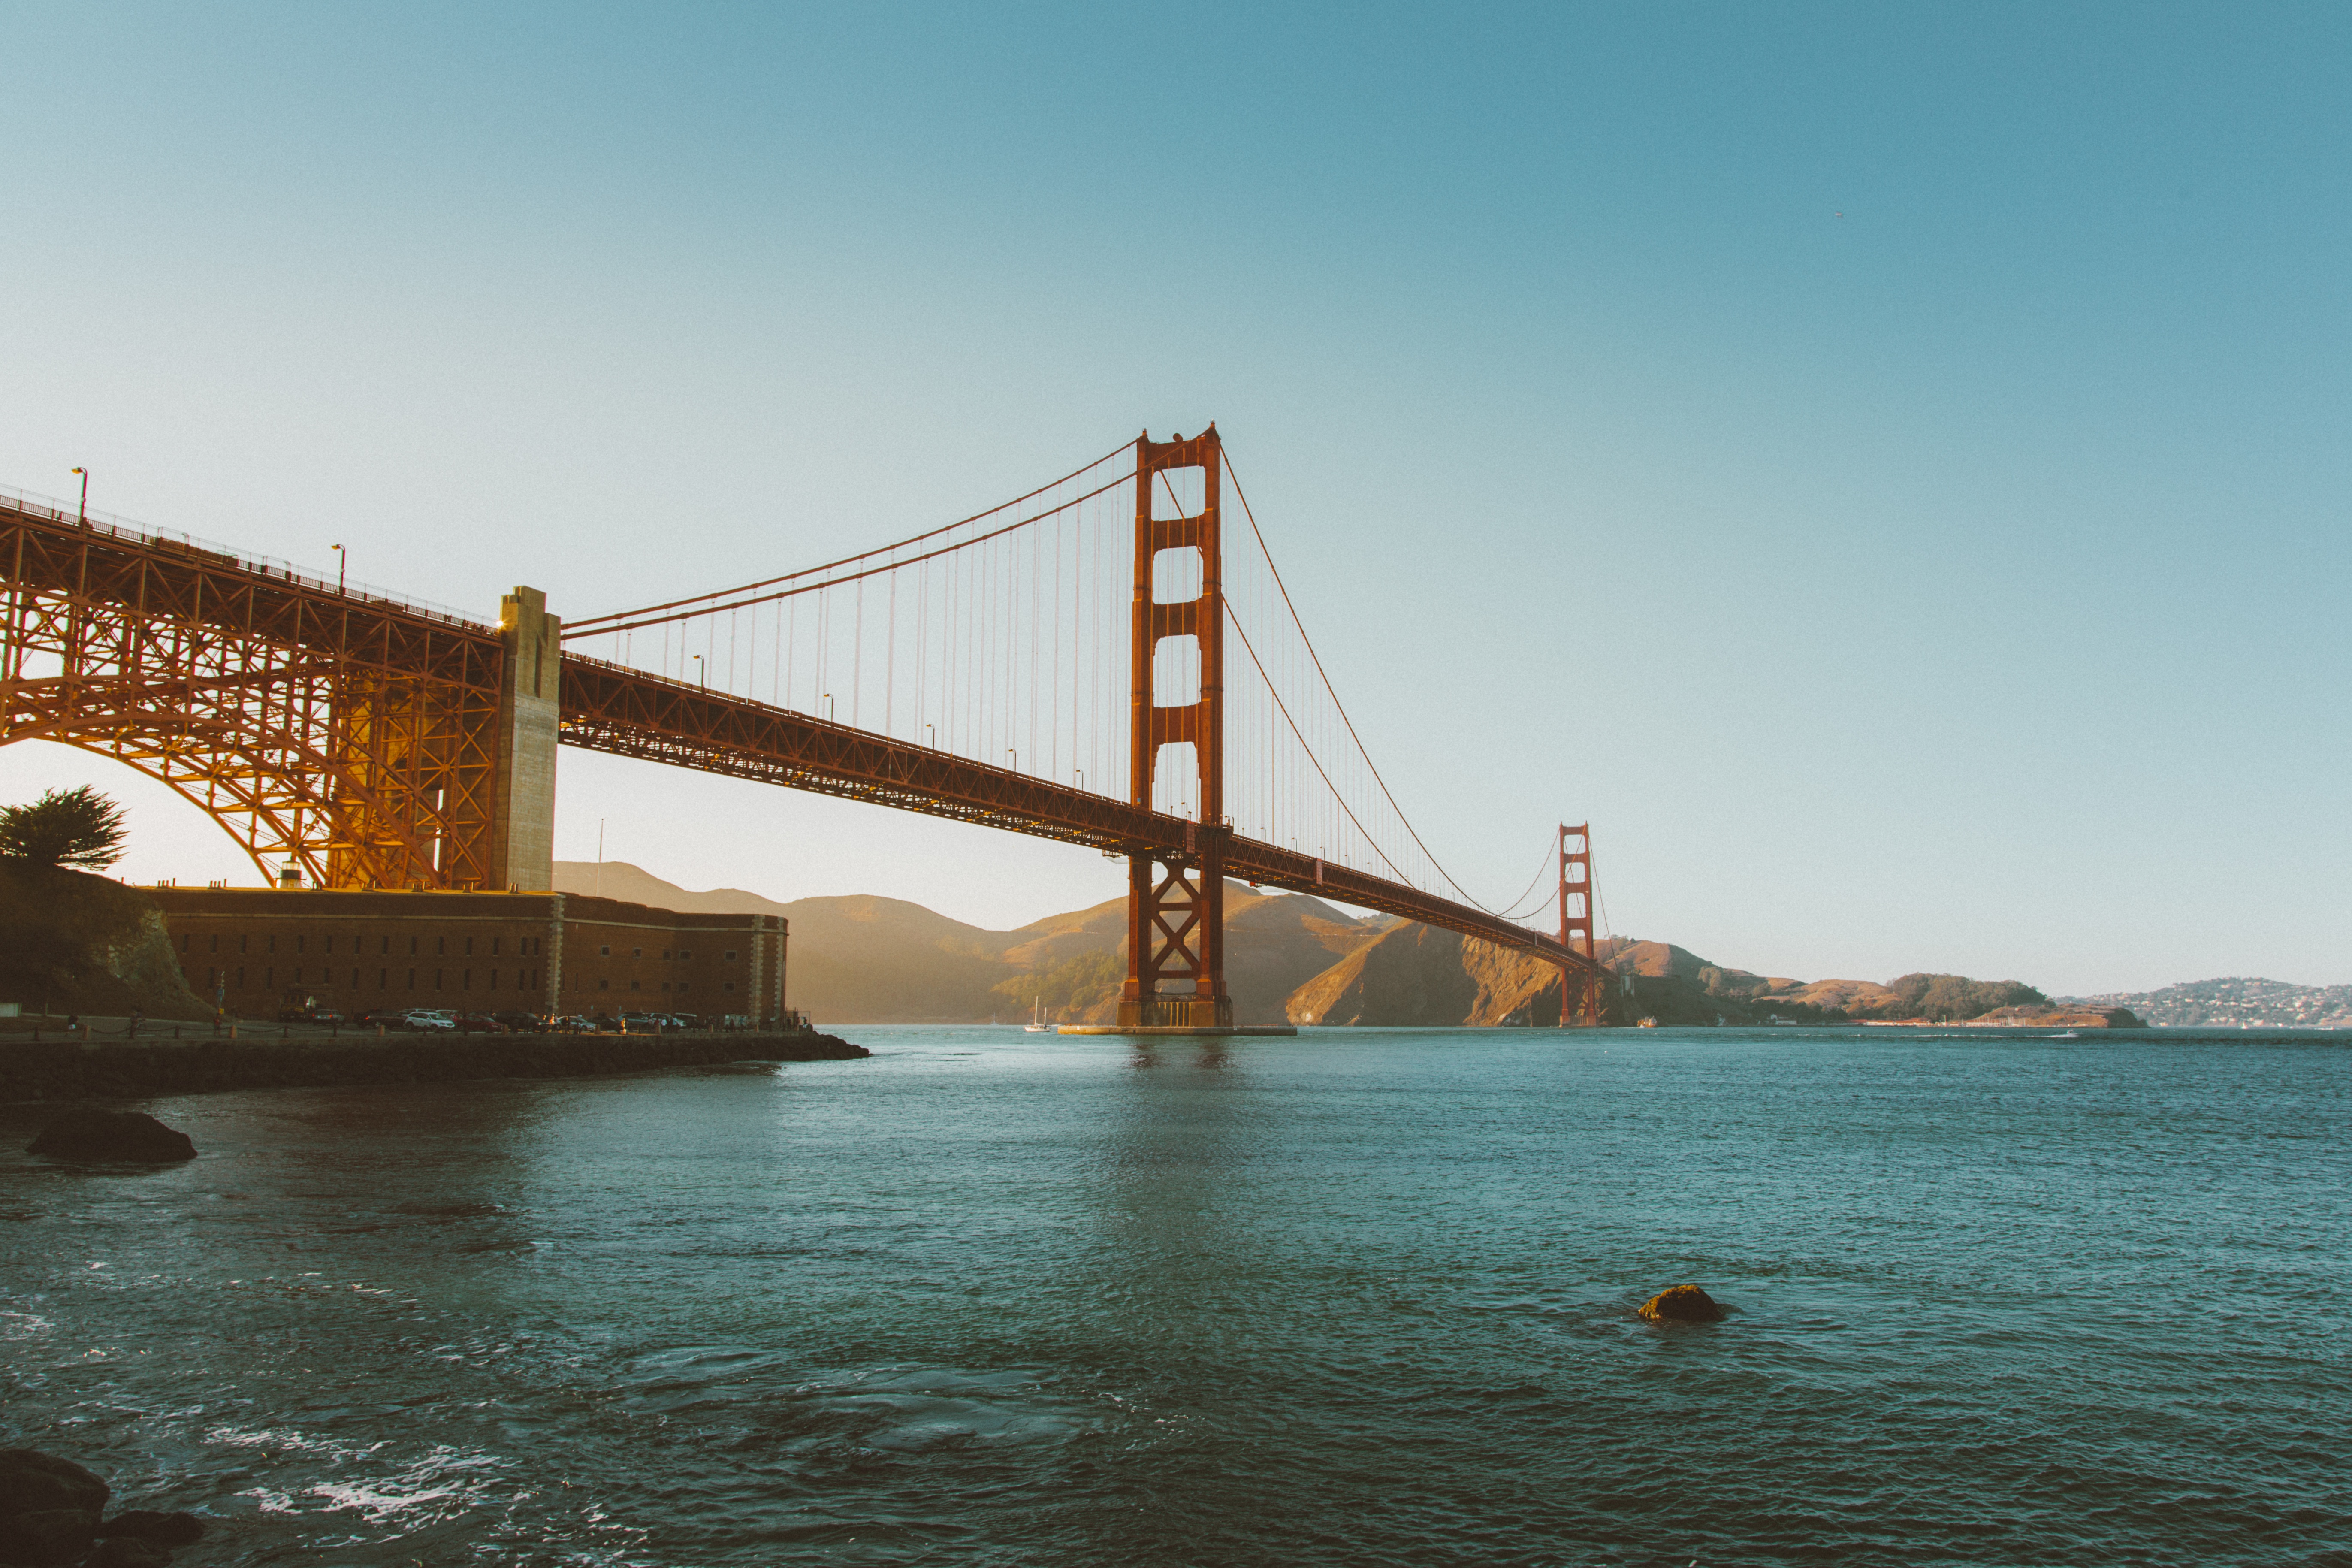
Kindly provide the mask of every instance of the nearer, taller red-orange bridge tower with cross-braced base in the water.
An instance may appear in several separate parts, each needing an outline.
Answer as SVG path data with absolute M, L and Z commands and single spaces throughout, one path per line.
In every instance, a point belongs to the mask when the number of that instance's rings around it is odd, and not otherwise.
M 1202 508 L 1176 515 L 1174 487 L 1162 475 L 1197 468 Z M 1127 985 L 1120 992 L 1120 1027 L 1230 1030 L 1232 997 L 1225 994 L 1225 588 L 1218 477 L 1223 447 L 1216 425 L 1192 440 L 1155 442 L 1136 437 L 1136 604 L 1129 663 L 1129 799 L 1150 809 L 1162 757 L 1181 766 L 1167 748 L 1188 745 L 1195 806 L 1185 844 L 1127 849 Z M 1160 515 L 1155 491 L 1167 496 Z M 1152 595 L 1162 552 L 1200 552 L 1200 597 L 1160 604 Z M 1190 703 L 1162 705 L 1157 654 L 1162 642 L 1190 637 L 1200 646 L 1200 693 Z

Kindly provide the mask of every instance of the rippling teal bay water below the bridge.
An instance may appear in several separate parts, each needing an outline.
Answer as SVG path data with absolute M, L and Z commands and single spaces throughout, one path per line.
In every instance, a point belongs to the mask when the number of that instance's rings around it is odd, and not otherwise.
M 5 1107 L 0 1441 L 191 1568 L 2352 1563 L 2338 1037 L 842 1032 Z

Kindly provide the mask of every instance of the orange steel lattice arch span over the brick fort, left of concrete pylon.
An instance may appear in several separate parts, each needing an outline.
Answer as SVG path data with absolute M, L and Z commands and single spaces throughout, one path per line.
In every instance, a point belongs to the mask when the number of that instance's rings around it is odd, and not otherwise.
M 167 783 L 275 879 L 485 886 L 489 628 L 0 501 L 0 745 Z

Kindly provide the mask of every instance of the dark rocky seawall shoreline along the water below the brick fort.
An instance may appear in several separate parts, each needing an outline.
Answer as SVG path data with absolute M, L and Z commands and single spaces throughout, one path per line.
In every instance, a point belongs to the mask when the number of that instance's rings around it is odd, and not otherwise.
M 717 1063 L 847 1063 L 873 1056 L 835 1034 L 470 1034 L 348 1041 L 0 1044 L 0 1103 L 136 1100 L 226 1088 L 572 1079 Z

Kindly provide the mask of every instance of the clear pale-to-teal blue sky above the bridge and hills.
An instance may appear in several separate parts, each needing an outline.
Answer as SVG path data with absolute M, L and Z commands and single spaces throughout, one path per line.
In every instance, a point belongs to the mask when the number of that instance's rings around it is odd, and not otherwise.
M 494 618 L 1225 433 L 1423 837 L 1802 978 L 2352 980 L 2352 12 L 0 12 L 0 484 Z M 134 879 L 254 879 L 134 802 Z M 1098 856 L 564 752 L 557 853 Z

